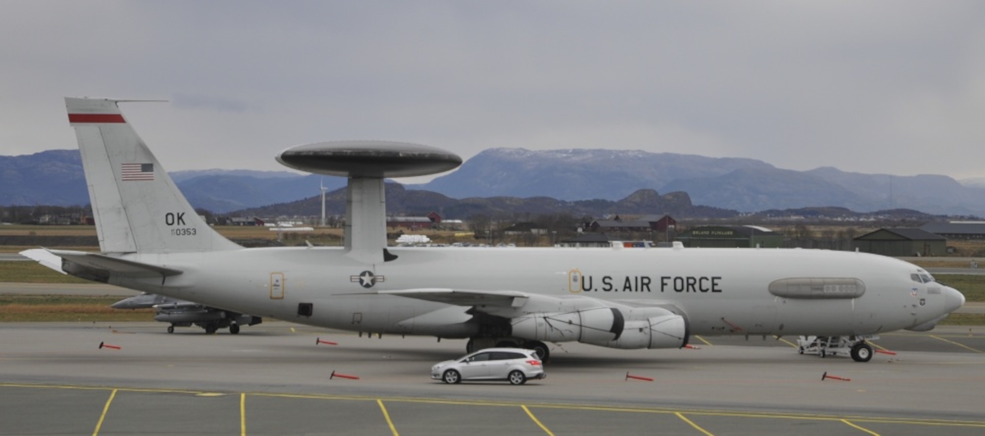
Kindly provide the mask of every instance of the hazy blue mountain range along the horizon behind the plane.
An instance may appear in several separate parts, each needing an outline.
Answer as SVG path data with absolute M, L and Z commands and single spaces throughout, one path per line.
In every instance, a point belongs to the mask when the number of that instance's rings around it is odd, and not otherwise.
M 212 169 L 170 174 L 193 206 L 216 213 L 301 199 L 320 202 L 320 184 L 328 190 L 345 186 L 340 177 L 288 171 Z M 407 185 L 406 190 L 430 191 L 463 201 L 500 198 L 505 202 L 504 208 L 538 202 L 620 202 L 644 190 L 646 195 L 658 197 L 680 196 L 677 193 L 683 192 L 694 205 L 740 212 L 825 206 L 862 212 L 910 209 L 985 216 L 985 188 L 976 182 L 980 181 L 970 180 L 965 186 L 944 175 L 864 174 L 832 167 L 794 171 L 749 158 L 502 148 L 484 151 L 456 171 L 426 184 Z M 507 201 L 509 198 L 513 199 Z M 88 203 L 78 151 L 0 156 L 0 205 Z M 440 203 L 436 201 L 434 205 Z M 396 205 L 390 206 L 391 211 L 397 211 Z M 445 211 L 447 218 L 467 218 L 456 216 L 467 214 L 467 207 L 455 206 L 452 210 L 456 211 L 454 215 Z

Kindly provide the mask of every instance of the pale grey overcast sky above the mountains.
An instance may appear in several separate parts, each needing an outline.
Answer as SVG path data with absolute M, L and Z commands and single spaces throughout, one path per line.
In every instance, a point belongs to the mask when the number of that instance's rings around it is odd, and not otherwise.
M 374 139 L 985 177 L 982 1 L 0 1 L 0 155 L 121 104 L 167 170 Z

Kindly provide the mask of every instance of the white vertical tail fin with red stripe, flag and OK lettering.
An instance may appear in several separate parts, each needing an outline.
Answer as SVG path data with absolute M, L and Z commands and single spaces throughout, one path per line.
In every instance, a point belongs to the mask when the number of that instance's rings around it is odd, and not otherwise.
M 199 218 L 117 100 L 65 98 L 86 171 L 103 253 L 241 248 Z

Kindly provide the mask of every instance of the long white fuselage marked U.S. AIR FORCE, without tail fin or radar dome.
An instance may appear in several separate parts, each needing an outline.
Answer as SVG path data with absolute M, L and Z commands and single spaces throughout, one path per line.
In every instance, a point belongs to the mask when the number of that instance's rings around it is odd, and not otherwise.
M 950 287 L 912 279 L 926 275 L 919 267 L 865 253 L 706 248 L 389 250 L 397 258 L 379 264 L 365 264 L 340 248 L 323 247 L 132 255 L 127 259 L 185 273 L 167 278 L 164 285 L 149 279 L 115 284 L 301 324 L 442 338 L 476 335 L 477 326 L 466 313 L 469 307 L 376 292 L 508 289 L 656 305 L 683 315 L 691 335 L 876 334 L 933 321 L 954 303 L 948 301 Z M 817 292 L 780 296 L 770 290 L 777 280 L 815 280 Z M 860 283 L 851 289 L 862 287 L 861 294 L 837 294 L 837 286 L 845 282 Z M 834 283 L 827 286 L 833 290 L 826 295 L 821 294 L 824 283 Z M 308 308 L 299 308 L 302 304 Z

